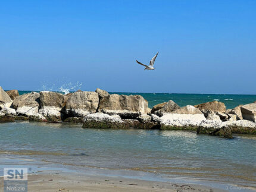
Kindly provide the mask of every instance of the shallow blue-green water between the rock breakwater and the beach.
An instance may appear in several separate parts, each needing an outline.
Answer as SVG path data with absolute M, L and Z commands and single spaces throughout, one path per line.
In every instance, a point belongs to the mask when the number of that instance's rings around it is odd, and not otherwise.
M 0 124 L 0 159 L 154 172 L 157 177 L 256 183 L 256 137 L 223 139 L 188 131 L 83 129 L 82 125 Z

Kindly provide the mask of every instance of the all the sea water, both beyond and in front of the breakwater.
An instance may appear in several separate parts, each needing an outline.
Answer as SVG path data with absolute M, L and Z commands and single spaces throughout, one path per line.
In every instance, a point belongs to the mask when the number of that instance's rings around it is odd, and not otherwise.
M 256 95 L 117 94 L 142 95 L 149 108 L 170 99 L 180 106 L 218 100 L 227 109 L 256 100 Z M 84 129 L 82 124 L 8 122 L 0 124 L 0 170 L 27 167 L 33 173 L 70 171 L 203 184 L 224 190 L 230 190 L 230 186 L 239 191 L 256 190 L 256 136 L 234 137 L 223 139 L 193 131 Z

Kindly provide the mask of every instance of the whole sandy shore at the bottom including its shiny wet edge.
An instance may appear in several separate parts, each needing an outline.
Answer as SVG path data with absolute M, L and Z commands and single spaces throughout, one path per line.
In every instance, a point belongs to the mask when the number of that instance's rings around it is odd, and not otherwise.
M 29 168 L 29 191 L 252 191 L 255 187 L 185 178 L 163 178 L 152 173 L 101 168 L 77 171 L 74 166 L 46 164 Z M 3 165 L 1 165 L 3 166 Z M 11 167 L 13 165 L 5 165 Z M 125 173 L 125 174 L 124 174 Z M 0 178 L 2 175 L 0 176 Z M 3 180 L 0 180 L 0 188 Z

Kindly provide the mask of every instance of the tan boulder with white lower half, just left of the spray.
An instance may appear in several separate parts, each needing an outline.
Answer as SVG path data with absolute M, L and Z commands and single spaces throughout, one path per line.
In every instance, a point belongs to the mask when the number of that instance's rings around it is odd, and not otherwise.
M 18 115 L 31 116 L 38 113 L 40 95 L 36 92 L 27 93 L 15 97 L 12 107 Z

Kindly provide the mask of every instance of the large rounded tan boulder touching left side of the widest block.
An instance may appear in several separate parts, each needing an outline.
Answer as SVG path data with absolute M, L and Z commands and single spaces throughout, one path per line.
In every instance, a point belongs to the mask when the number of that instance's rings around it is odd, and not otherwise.
M 99 95 L 96 92 L 75 92 L 67 100 L 66 114 L 74 117 L 85 117 L 96 112 L 99 106 Z

